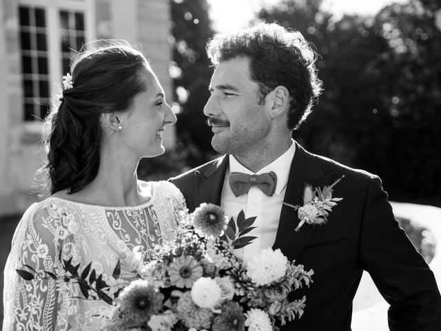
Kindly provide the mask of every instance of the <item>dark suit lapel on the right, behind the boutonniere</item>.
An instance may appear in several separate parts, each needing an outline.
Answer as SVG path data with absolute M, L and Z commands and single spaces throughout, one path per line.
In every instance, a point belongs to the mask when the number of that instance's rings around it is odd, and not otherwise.
M 325 176 L 314 156 L 296 143 L 296 154 L 291 163 L 284 202 L 291 205 L 303 205 L 305 185 L 309 183 L 314 187 L 322 187 L 330 185 L 332 179 L 333 175 Z M 299 222 L 297 210 L 284 204 L 280 212 L 273 249 L 280 248 L 289 261 L 298 259 L 314 234 L 314 226 L 307 224 L 304 224 L 300 231 L 294 231 Z

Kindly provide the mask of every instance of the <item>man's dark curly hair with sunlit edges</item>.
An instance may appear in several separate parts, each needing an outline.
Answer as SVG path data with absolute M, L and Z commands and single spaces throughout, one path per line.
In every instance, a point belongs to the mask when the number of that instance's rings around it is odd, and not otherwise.
M 276 23 L 216 34 L 207 43 L 207 54 L 214 66 L 236 57 L 249 59 L 251 78 L 259 86 L 259 104 L 274 88 L 285 86 L 291 97 L 289 130 L 300 126 L 320 94 L 322 81 L 317 77 L 316 52 L 300 32 Z

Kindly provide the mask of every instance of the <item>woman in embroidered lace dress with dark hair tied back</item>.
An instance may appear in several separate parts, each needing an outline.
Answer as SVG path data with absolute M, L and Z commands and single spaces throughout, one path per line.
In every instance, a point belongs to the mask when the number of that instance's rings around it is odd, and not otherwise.
M 61 259 L 72 257 L 72 265 L 92 263 L 103 280 L 120 261 L 121 275 L 130 277 L 134 251 L 149 259 L 185 210 L 172 183 L 136 176 L 142 157 L 163 154 L 165 126 L 176 122 L 143 54 L 112 41 L 79 53 L 71 74 L 43 137 L 51 195 L 28 208 L 12 239 L 3 331 L 98 329 L 107 303 L 85 299 L 72 281 L 25 281 L 15 270 L 29 265 L 60 276 Z

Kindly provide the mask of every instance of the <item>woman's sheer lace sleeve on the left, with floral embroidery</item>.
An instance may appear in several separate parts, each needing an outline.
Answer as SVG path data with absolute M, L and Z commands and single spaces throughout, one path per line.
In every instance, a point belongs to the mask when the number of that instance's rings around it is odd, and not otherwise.
M 6 330 L 72 330 L 69 317 L 76 313 L 79 297 L 76 285 L 63 281 L 59 261 L 72 255 L 76 262 L 74 232 L 76 217 L 67 208 L 52 204 L 32 205 L 23 215 L 12 239 L 4 272 L 3 293 Z M 26 266 L 28 265 L 28 266 Z M 38 275 L 25 280 L 16 269 L 36 270 Z M 43 272 L 57 274 L 52 279 Z

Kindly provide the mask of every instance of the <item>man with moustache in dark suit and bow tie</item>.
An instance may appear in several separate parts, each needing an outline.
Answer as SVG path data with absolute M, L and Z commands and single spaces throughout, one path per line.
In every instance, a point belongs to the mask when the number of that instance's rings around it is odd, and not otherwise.
M 311 288 L 294 292 L 307 297 L 305 314 L 281 330 L 351 330 L 352 300 L 367 270 L 391 305 L 390 330 L 440 331 L 433 273 L 394 219 L 380 179 L 291 139 L 321 86 L 316 54 L 302 34 L 262 23 L 217 35 L 207 53 L 216 69 L 204 114 L 214 150 L 225 155 L 171 181 L 190 211 L 209 202 L 230 216 L 244 210 L 257 217 L 249 235 L 258 239 L 237 252 L 244 261 L 272 246 L 314 270 Z M 285 203 L 302 205 L 305 185 L 323 188 L 341 177 L 333 197 L 342 200 L 328 222 L 295 231 L 298 212 Z

